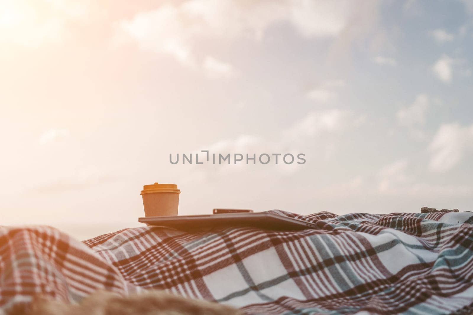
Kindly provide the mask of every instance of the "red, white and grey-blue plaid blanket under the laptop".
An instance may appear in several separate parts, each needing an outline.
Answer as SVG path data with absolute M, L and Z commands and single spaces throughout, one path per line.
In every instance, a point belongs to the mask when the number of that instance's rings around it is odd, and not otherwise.
M 0 312 L 97 289 L 165 289 L 248 314 L 473 311 L 473 213 L 275 212 L 318 229 L 141 227 L 79 242 L 50 227 L 0 227 Z

